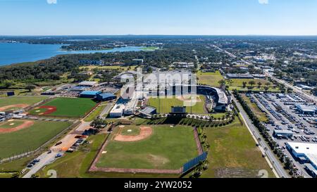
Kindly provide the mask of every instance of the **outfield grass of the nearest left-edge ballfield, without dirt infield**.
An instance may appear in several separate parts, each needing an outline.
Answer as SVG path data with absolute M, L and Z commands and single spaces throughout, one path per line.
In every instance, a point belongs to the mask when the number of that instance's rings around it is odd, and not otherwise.
M 0 134 L 0 146 L 2 146 L 0 158 L 33 151 L 71 124 L 70 122 L 35 121 L 32 127 L 21 129 L 18 132 Z

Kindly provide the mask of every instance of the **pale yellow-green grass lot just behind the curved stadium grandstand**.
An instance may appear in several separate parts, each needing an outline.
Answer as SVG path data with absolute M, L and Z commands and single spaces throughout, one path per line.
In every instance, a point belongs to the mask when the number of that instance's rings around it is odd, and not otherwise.
M 220 84 L 218 82 L 223 79 L 223 76 L 220 74 L 219 71 L 197 72 L 197 77 L 199 84 L 206 84 L 211 87 L 220 87 Z

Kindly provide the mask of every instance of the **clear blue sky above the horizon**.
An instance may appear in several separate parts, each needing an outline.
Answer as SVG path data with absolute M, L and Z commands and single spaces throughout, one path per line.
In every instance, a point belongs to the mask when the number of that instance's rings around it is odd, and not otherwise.
M 1 34 L 317 35 L 317 0 L 0 0 Z

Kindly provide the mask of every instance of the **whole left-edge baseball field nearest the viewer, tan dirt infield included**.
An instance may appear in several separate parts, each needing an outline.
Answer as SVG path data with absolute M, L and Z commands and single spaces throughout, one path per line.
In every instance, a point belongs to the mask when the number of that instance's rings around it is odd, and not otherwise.
M 0 158 L 33 151 L 71 124 L 32 120 L 0 122 Z

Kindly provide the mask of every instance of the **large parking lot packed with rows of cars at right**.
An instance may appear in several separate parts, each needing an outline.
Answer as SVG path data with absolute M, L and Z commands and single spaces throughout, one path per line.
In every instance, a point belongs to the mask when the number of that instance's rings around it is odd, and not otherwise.
M 256 103 L 263 113 L 266 113 L 268 122 L 267 131 L 282 149 L 282 153 L 289 156 L 299 170 L 298 174 L 309 177 L 304 166 L 294 160 L 287 151 L 286 142 L 317 143 L 317 115 L 303 115 L 296 105 L 312 105 L 297 94 L 246 94 L 251 102 Z M 278 133 L 278 134 L 276 134 Z M 282 133 L 282 134 L 280 134 Z

